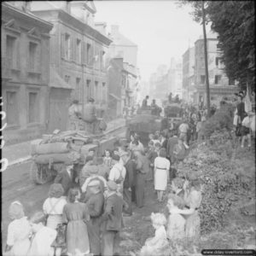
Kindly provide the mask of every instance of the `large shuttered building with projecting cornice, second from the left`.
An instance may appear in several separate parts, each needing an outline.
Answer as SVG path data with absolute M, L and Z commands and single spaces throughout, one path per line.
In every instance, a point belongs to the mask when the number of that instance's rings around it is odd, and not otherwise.
M 108 79 L 105 55 L 112 42 L 104 23 L 94 23 L 93 2 L 32 2 L 32 13 L 51 22 L 49 47 L 49 132 L 67 129 L 67 109 L 72 99 L 107 108 Z

